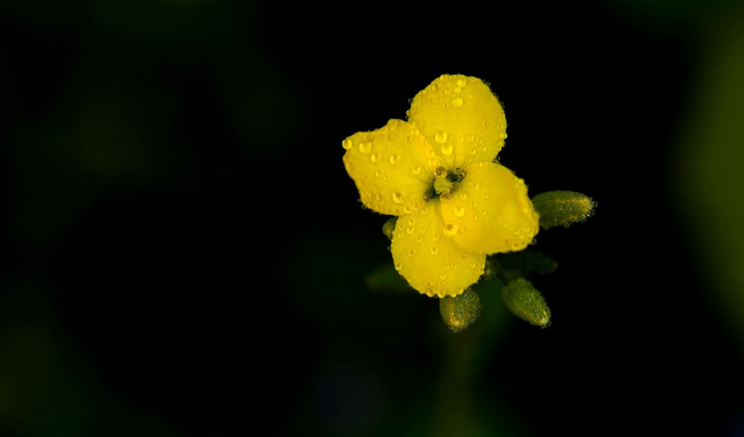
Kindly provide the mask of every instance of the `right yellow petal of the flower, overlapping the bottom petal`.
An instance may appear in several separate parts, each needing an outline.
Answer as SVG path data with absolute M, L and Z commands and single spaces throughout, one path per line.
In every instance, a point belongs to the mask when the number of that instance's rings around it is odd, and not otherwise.
M 525 181 L 493 162 L 475 162 L 464 170 L 461 188 L 440 200 L 454 240 L 483 254 L 525 249 L 539 231 L 539 214 Z

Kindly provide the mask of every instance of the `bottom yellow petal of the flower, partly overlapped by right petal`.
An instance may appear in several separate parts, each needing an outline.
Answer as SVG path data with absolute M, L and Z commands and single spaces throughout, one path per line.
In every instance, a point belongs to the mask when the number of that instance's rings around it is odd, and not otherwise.
M 486 256 L 467 252 L 444 232 L 440 202 L 400 217 L 390 250 L 395 268 L 421 294 L 458 296 L 483 274 Z

